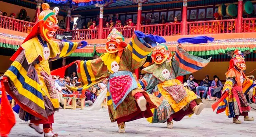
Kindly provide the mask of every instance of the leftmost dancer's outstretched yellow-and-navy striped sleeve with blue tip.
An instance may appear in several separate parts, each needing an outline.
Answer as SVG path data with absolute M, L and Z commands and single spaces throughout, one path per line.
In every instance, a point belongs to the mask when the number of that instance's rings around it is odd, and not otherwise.
M 82 46 L 80 44 L 82 43 Z M 69 56 L 74 50 L 85 47 L 87 43 L 85 41 L 82 42 L 61 42 L 61 41 L 50 41 L 50 59 L 49 61 L 54 61 L 59 58 L 64 58 Z

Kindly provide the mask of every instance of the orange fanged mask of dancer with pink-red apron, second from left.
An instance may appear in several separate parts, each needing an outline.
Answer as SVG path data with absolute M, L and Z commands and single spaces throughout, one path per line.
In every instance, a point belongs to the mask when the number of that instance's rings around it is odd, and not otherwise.
M 119 51 L 120 47 L 126 47 L 126 43 L 124 42 L 124 37 L 117 29 L 113 29 L 111 33 L 108 35 L 108 40 L 106 43 L 106 51 L 108 53 L 116 53 Z

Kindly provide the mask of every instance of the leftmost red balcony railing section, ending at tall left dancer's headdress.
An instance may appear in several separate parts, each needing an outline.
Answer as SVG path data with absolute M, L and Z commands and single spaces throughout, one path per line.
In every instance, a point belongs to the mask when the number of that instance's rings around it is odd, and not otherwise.
M 13 31 L 30 33 L 35 23 L 0 15 L 0 27 Z

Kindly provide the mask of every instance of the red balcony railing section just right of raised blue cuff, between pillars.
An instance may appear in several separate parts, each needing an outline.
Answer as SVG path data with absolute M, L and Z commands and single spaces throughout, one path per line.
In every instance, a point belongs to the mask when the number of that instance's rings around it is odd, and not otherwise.
M 180 24 L 181 23 L 141 25 L 141 31 L 145 34 L 154 34 L 158 36 L 180 35 Z

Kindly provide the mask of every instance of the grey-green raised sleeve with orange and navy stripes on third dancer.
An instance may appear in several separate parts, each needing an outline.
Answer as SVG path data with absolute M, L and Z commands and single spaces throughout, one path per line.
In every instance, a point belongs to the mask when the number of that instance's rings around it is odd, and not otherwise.
M 177 47 L 176 54 L 172 59 L 172 67 L 177 76 L 184 76 L 204 68 L 210 62 L 211 57 L 203 59 L 193 56 L 184 49 Z

